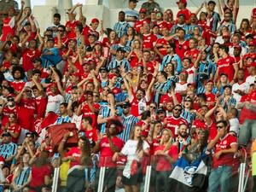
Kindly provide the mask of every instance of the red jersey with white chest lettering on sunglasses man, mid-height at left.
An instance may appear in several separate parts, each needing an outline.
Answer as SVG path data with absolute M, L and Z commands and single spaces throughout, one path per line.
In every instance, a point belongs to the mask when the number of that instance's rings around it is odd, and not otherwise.
M 28 131 L 35 131 L 34 114 L 37 113 L 37 103 L 34 99 L 20 99 L 18 106 L 18 122 Z M 28 120 L 29 119 L 29 120 Z

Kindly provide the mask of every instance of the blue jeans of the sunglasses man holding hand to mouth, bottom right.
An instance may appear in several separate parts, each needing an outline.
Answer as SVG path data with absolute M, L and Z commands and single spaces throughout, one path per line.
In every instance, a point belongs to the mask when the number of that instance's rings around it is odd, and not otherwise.
M 232 167 L 218 166 L 212 169 L 209 177 L 208 192 L 230 192 L 232 183 Z M 218 190 L 220 187 L 220 190 Z

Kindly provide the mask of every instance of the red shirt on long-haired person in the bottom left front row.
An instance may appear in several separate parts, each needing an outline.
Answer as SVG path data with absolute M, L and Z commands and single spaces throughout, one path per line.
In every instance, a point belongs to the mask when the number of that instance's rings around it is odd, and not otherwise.
M 36 192 L 33 189 L 38 189 L 44 185 L 44 177 L 50 175 L 50 168 L 47 165 L 44 166 L 32 166 L 32 180 L 29 184 L 29 192 Z

